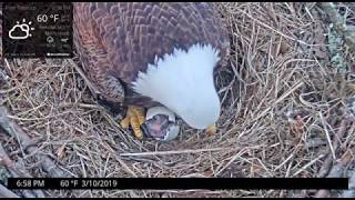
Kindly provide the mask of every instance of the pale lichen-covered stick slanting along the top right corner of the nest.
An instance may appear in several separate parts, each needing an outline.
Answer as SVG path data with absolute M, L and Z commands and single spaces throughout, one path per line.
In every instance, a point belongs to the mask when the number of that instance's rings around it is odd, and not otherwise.
M 321 4 L 324 12 L 327 13 L 332 23 L 334 23 L 336 32 L 344 37 L 345 42 L 348 44 L 351 50 L 355 52 L 355 34 L 347 29 L 346 24 L 344 24 L 344 20 L 341 17 L 341 14 L 336 11 L 334 3 L 322 2 Z

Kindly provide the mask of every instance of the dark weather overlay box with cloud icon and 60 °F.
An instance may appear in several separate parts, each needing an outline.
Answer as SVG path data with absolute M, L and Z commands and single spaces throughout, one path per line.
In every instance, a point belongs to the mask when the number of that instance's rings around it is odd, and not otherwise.
M 71 58 L 72 12 L 71 2 L 4 2 L 3 57 Z

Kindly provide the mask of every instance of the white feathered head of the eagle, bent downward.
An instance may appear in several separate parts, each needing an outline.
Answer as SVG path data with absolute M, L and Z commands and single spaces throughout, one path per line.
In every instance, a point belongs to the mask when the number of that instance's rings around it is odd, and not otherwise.
M 212 46 L 192 46 L 187 51 L 155 59 L 140 72 L 133 89 L 175 112 L 190 127 L 206 129 L 220 118 L 221 102 L 214 86 L 213 69 L 220 60 Z

